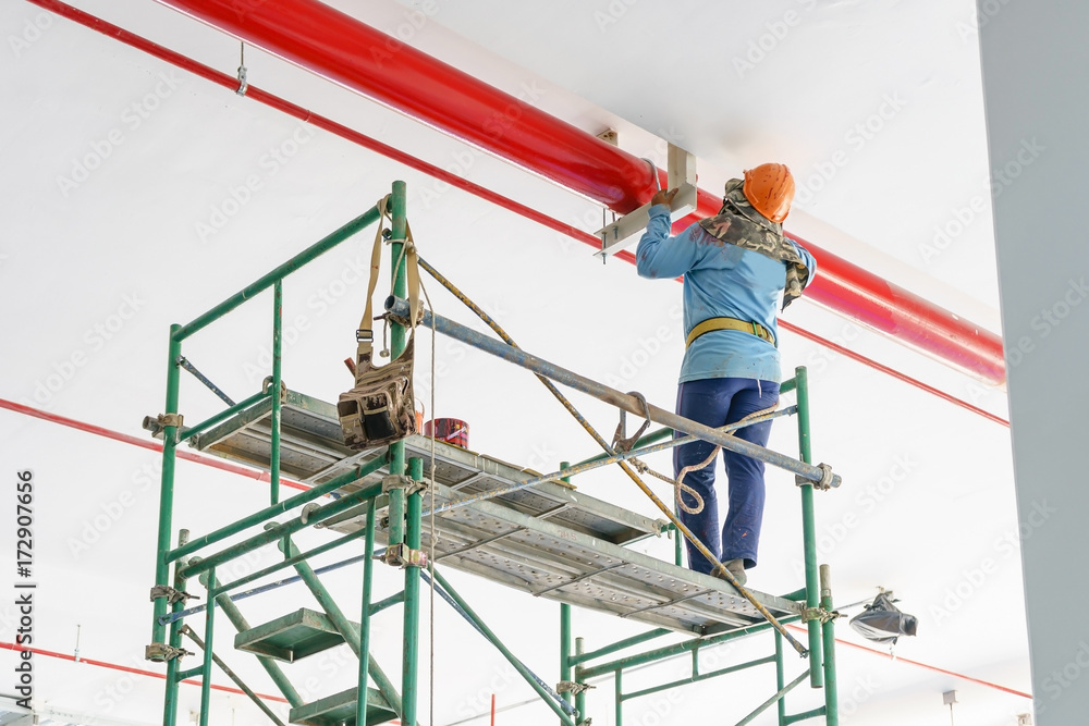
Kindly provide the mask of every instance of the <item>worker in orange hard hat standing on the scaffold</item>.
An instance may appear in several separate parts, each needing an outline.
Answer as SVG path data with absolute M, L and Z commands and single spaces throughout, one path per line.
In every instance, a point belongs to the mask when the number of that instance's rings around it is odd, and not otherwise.
M 783 235 L 782 222 L 794 199 L 794 177 L 783 164 L 768 163 L 726 182 L 722 209 L 714 217 L 670 236 L 670 204 L 676 189 L 651 199 L 650 222 L 636 248 L 641 278 L 684 275 L 686 348 L 681 366 L 676 413 L 718 428 L 773 409 L 781 377 L 775 308 L 802 295 L 817 266 L 805 248 Z M 771 421 L 735 435 L 768 445 Z M 756 567 L 763 517 L 763 463 L 723 450 L 729 508 L 720 532 L 714 492 L 714 445 L 706 441 L 673 450 L 674 476 L 702 499 L 681 520 L 742 585 Z M 698 468 L 701 464 L 711 460 Z M 695 497 L 683 503 L 698 508 Z M 711 563 L 688 542 L 688 567 L 711 573 Z

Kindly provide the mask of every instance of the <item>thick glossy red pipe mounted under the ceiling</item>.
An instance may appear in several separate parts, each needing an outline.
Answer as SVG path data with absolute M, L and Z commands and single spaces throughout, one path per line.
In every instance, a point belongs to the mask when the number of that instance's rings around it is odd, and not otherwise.
M 159 0 L 224 33 L 625 213 L 650 199 L 646 161 L 317 0 Z M 718 211 L 700 190 L 696 216 Z M 800 239 L 799 239 L 800 242 Z M 811 299 L 989 383 L 1001 339 L 820 247 Z

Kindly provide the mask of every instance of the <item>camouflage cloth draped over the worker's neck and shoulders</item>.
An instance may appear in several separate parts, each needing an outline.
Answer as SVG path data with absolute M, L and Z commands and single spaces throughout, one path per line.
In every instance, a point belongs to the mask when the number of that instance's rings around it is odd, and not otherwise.
M 699 225 L 712 237 L 744 249 L 760 253 L 786 264 L 786 284 L 783 291 L 783 309 L 802 297 L 809 284 L 809 268 L 785 236 L 783 225 L 772 222 L 758 212 L 742 189 L 744 180 L 726 182 L 722 209 L 714 217 L 700 220 Z

